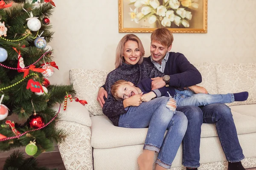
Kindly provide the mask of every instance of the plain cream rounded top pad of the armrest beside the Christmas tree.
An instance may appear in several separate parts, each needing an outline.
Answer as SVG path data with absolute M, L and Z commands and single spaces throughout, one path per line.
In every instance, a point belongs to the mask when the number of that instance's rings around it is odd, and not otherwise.
M 56 105 L 53 109 L 58 111 L 59 105 Z M 74 100 L 73 102 L 67 102 L 66 111 L 63 110 L 63 105 L 61 106 L 58 121 L 75 122 L 88 127 L 92 125 L 87 108 Z

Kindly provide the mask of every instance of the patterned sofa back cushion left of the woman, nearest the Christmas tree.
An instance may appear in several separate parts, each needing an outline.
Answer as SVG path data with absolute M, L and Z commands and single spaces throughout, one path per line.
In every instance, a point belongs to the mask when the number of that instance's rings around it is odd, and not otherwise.
M 93 115 L 103 115 L 102 108 L 97 101 L 99 88 L 105 84 L 110 71 L 86 70 L 73 68 L 70 70 L 70 83 L 76 91 L 76 97 L 87 101 L 85 107 Z

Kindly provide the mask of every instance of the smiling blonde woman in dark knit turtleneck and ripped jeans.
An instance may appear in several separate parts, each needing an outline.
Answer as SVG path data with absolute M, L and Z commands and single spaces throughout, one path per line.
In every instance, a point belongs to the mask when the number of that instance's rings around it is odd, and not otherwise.
M 185 135 L 186 116 L 182 112 L 175 112 L 166 107 L 167 102 L 174 101 L 169 97 L 142 102 L 141 95 L 131 94 L 130 98 L 123 101 L 116 101 L 111 95 L 111 85 L 119 79 L 137 84 L 144 78 L 163 76 L 149 63 L 143 62 L 144 53 L 142 42 L 136 35 L 127 34 L 120 40 L 116 48 L 116 69 L 108 74 L 105 83 L 108 98 L 105 100 L 103 113 L 115 126 L 148 127 L 144 150 L 138 158 L 140 170 L 152 170 L 154 152 L 159 152 L 156 170 L 166 170 L 171 167 Z M 164 138 L 166 130 L 168 132 Z

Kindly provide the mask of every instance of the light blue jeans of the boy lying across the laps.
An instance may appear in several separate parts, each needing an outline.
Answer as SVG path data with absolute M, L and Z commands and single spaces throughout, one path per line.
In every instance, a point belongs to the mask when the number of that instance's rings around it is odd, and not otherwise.
M 234 95 L 229 94 L 194 94 L 190 90 L 179 91 L 175 89 L 174 99 L 178 106 L 205 106 L 212 103 L 231 103 L 235 101 Z

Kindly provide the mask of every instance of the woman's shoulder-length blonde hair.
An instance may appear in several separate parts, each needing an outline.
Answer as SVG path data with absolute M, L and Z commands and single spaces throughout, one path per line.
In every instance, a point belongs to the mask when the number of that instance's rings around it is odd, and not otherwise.
M 138 64 L 141 64 L 143 62 L 143 57 L 145 54 L 144 47 L 142 45 L 142 42 L 139 37 L 137 37 L 134 34 L 126 34 L 122 39 L 119 41 L 117 47 L 116 47 L 116 61 L 115 61 L 115 67 L 118 68 L 120 65 L 122 65 L 122 62 L 125 61 L 123 58 L 123 51 L 124 51 L 124 46 L 127 41 L 135 41 L 138 43 L 139 49 L 140 49 L 140 60 L 138 61 Z

